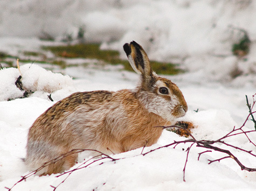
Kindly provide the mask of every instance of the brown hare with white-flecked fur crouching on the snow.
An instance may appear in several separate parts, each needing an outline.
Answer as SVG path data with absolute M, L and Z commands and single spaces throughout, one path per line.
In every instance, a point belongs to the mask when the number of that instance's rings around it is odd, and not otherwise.
M 188 106 L 170 80 L 158 77 L 146 52 L 135 41 L 123 46 L 130 65 L 141 75 L 134 90 L 77 92 L 41 114 L 29 130 L 25 163 L 36 170 L 73 149 L 120 153 L 157 142 L 162 128 L 175 124 Z M 38 171 L 61 173 L 78 154 L 69 155 Z

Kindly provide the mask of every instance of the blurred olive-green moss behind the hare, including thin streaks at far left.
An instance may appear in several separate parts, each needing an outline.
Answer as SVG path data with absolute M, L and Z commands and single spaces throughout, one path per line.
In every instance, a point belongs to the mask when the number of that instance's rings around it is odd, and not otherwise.
M 100 45 L 98 44 L 78 44 L 78 45 L 68 45 L 68 46 L 53 46 L 53 47 L 42 47 L 44 50 L 50 50 L 53 54 L 57 57 L 64 57 L 64 58 L 90 58 L 96 59 L 100 62 L 95 63 L 96 68 L 101 68 L 101 65 L 112 64 L 118 65 L 121 64 L 124 67 L 124 70 L 133 71 L 132 67 L 130 66 L 127 60 L 121 60 L 119 52 L 115 50 L 100 50 Z M 43 53 L 40 52 L 23 52 L 26 56 L 40 56 Z M 6 58 L 9 60 L 7 61 Z M 17 60 L 17 56 L 8 55 L 6 53 L 0 52 L 0 61 L 1 63 L 5 63 L 8 67 L 13 67 L 13 61 Z M 39 58 L 40 59 L 40 58 Z M 40 64 L 53 64 L 58 65 L 60 68 L 65 69 L 68 67 L 68 64 L 64 61 L 60 61 L 56 58 L 54 59 L 46 59 L 42 61 L 31 60 L 31 59 L 19 59 L 22 63 L 40 63 Z M 103 61 L 103 62 L 102 62 Z M 79 64 L 80 65 L 80 64 Z M 82 64 L 84 67 L 88 67 L 88 63 Z M 75 66 L 72 64 L 72 66 Z M 172 63 L 163 63 L 163 62 L 156 62 L 151 61 L 151 66 L 157 74 L 165 74 L 165 75 L 175 75 L 179 72 L 182 72 L 181 69 L 177 69 L 177 64 Z

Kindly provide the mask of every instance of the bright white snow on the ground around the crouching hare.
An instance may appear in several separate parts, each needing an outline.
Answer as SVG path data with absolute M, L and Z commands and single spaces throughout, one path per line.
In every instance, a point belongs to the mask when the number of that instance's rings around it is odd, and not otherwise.
M 28 130 L 33 121 L 54 102 L 75 91 L 96 89 L 117 90 L 133 88 L 137 75 L 126 71 L 87 71 L 83 68 L 68 68 L 67 73 L 84 76 L 72 80 L 68 76 L 54 74 L 38 67 L 36 64 L 26 64 L 20 67 L 23 76 L 23 87 L 33 90 L 29 98 L 0 102 L 0 187 L 11 187 L 20 176 L 29 173 L 22 158 L 25 157 L 25 145 Z M 16 85 L 20 75 L 16 68 L 0 70 L 1 99 L 22 96 Z M 80 73 L 81 72 L 81 73 Z M 182 83 L 181 83 L 182 84 Z M 3 86 L 4 85 L 4 86 Z M 234 126 L 240 127 L 248 112 L 244 94 L 251 95 L 253 90 L 232 89 L 223 85 L 189 85 L 183 82 L 180 86 L 189 105 L 189 112 L 184 120 L 198 126 L 193 129 L 197 139 L 218 139 L 229 133 Z M 9 91 L 10 90 L 10 91 Z M 54 102 L 47 96 L 51 93 Z M 251 99 L 250 99 L 251 100 Z M 193 110 L 198 108 L 196 113 Z M 248 122 L 244 130 L 252 130 L 252 122 Z M 252 140 L 256 134 L 250 135 Z M 175 133 L 164 130 L 156 145 L 145 148 L 143 152 L 157 148 L 173 141 L 181 141 Z M 243 149 L 253 150 L 245 136 L 229 139 L 227 143 Z M 177 146 L 176 149 L 164 148 L 141 156 L 142 148 L 113 155 L 113 158 L 125 158 L 114 162 L 74 172 L 58 188 L 61 190 L 254 190 L 256 186 L 255 172 L 241 171 L 231 159 L 208 165 L 207 159 L 218 159 L 224 155 L 205 153 L 197 160 L 198 153 L 206 149 L 194 146 L 189 155 L 185 171 L 186 182 L 183 182 L 183 167 L 186 159 L 186 148 L 190 144 Z M 244 155 L 238 151 L 232 152 L 248 167 L 255 167 L 256 158 Z M 80 164 L 78 164 L 80 165 Z M 77 166 L 78 166 L 77 165 Z M 13 190 L 52 190 L 63 177 L 56 175 L 46 177 L 30 177 L 18 183 Z

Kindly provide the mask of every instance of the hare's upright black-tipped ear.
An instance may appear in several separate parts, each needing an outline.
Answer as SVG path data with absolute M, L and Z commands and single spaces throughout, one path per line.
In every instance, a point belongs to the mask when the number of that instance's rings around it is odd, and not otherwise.
M 132 41 L 130 44 L 126 43 L 123 45 L 123 49 L 126 52 L 130 65 L 132 65 L 137 74 L 142 74 L 144 77 L 152 76 L 153 71 L 148 55 L 137 42 Z

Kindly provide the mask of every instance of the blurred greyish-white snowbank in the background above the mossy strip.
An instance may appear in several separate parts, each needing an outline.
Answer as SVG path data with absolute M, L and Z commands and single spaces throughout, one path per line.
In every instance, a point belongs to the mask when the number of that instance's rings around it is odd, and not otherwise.
M 119 50 L 122 58 L 126 58 L 122 45 L 135 40 L 151 59 L 180 63 L 196 72 L 198 82 L 204 78 L 242 87 L 249 81 L 255 87 L 255 7 L 256 2 L 248 0 L 1 1 L 0 36 L 75 39 L 82 29 L 86 42 Z M 251 51 L 241 58 L 231 50 L 243 30 L 251 40 Z M 39 44 L 34 43 L 34 48 Z M 237 71 L 241 76 L 234 76 Z

